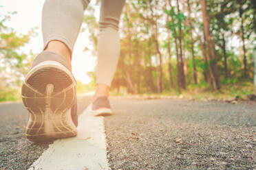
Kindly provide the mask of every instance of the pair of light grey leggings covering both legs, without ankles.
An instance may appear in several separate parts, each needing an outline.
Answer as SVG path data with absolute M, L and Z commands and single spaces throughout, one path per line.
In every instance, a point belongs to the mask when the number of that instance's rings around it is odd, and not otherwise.
M 44 49 L 60 40 L 73 51 L 89 0 L 45 0 L 43 5 Z M 110 86 L 120 55 L 118 25 L 125 0 L 101 0 L 98 38 L 97 84 Z

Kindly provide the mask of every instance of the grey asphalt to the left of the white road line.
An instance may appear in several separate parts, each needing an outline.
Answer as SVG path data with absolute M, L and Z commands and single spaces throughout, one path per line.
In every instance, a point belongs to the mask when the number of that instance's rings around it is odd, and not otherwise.
M 78 97 L 78 114 L 91 97 Z M 21 102 L 0 104 L 0 170 L 25 170 L 48 148 L 48 143 L 33 143 L 25 138 L 28 111 Z

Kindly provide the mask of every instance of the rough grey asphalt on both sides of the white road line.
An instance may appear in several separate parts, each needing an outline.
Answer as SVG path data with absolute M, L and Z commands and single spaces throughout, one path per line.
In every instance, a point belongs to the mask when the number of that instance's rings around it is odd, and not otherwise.
M 78 112 L 90 97 L 78 97 Z M 256 104 L 111 98 L 111 169 L 256 169 Z M 0 104 L 0 169 L 28 169 L 49 143 L 25 139 L 27 111 Z

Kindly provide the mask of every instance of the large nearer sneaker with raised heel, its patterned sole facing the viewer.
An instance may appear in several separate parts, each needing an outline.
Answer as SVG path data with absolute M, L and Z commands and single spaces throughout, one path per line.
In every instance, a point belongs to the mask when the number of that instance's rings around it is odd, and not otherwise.
M 30 119 L 30 141 L 76 136 L 76 80 L 71 66 L 58 53 L 43 51 L 34 60 L 21 88 Z

